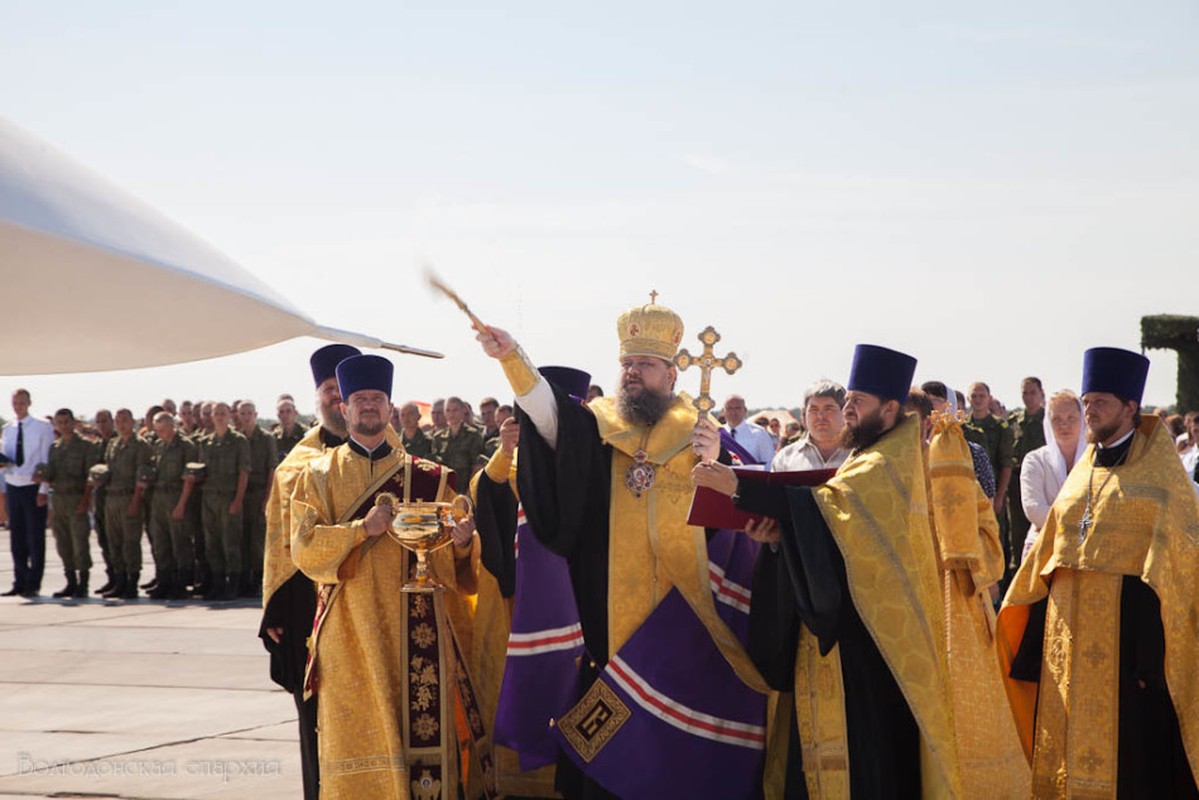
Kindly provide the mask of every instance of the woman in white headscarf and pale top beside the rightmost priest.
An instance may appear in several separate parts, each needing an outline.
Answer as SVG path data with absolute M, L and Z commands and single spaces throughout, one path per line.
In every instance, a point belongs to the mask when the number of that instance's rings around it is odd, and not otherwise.
M 1061 485 L 1086 450 L 1083 401 L 1068 389 L 1049 398 L 1043 425 L 1049 444 L 1030 452 L 1020 465 L 1020 505 L 1032 523 L 1024 540 L 1024 555 L 1032 549 Z

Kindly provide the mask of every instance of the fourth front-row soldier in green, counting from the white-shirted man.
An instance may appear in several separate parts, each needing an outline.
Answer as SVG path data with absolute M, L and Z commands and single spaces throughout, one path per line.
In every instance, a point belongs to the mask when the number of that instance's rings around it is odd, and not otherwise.
M 200 444 L 205 464 L 204 552 L 212 571 L 207 600 L 233 600 L 245 569 L 241 558 L 242 510 L 249 481 L 249 443 L 229 427 L 229 404 L 212 407 L 212 434 Z

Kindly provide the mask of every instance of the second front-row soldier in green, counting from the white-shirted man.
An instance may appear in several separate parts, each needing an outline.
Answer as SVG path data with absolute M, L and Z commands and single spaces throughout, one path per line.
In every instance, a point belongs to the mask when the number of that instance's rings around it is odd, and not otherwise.
M 114 421 L 116 435 L 104 452 L 109 474 L 104 516 L 109 547 L 120 566 L 115 584 L 103 596 L 137 600 L 143 519 L 143 486 L 138 482 L 138 471 L 150 463 L 150 445 L 133 432 L 133 413 L 129 409 L 119 409 Z

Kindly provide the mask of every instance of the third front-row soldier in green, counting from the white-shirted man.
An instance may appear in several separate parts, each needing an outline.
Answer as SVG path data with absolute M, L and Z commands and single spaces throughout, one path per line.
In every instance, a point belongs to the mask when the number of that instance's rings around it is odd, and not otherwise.
M 193 485 L 183 480 L 185 467 L 199 450 L 179 433 L 175 417 L 159 411 L 153 420 L 153 492 L 150 495 L 150 543 L 157 564 L 158 585 L 150 591 L 155 600 L 183 600 L 192 577 L 192 531 L 188 530 L 187 501 Z

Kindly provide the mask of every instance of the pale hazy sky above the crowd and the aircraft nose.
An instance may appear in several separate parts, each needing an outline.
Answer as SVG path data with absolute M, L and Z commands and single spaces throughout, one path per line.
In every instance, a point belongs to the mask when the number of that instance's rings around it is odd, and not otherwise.
M 1138 349 L 1141 315 L 1199 314 L 1185 0 L 47 0 L 0 5 L 0 30 L 10 120 L 321 324 L 446 353 L 396 356 L 396 399 L 510 395 L 422 258 L 609 390 L 615 319 L 657 289 L 693 351 L 712 324 L 742 356 L 715 393 L 751 407 L 844 380 L 857 342 L 1016 407 L 1025 374 L 1077 387 L 1086 347 Z M 40 414 L 283 391 L 308 411 L 319 344 L 0 389 Z M 1150 356 L 1145 399 L 1171 403 L 1176 360 Z

